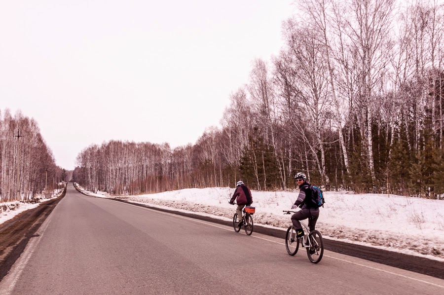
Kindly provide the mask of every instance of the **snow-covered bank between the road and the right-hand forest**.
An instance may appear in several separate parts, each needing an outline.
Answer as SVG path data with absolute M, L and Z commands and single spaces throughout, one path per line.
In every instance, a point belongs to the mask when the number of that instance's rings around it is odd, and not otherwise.
M 228 200 L 233 192 L 229 187 L 189 188 L 120 198 L 231 221 L 236 207 Z M 286 230 L 291 215 L 282 211 L 290 210 L 298 192 L 253 190 L 255 223 Z M 110 198 L 104 193 L 86 193 Z M 345 191 L 327 191 L 325 198 L 316 225 L 324 238 L 444 262 L 444 200 Z

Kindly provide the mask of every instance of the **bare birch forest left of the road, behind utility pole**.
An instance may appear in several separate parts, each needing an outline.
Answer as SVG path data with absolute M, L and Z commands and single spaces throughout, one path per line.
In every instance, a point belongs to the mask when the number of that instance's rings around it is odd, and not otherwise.
M 56 189 L 66 174 L 57 167 L 34 119 L 20 111 L 13 116 L 0 110 L 0 202 L 33 199 L 37 193 Z

